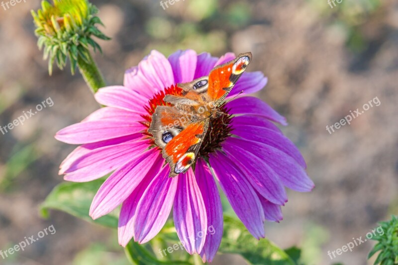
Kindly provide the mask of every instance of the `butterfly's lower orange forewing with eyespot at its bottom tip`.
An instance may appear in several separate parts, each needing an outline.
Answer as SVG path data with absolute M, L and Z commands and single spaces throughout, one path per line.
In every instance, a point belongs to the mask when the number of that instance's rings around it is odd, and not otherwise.
M 187 172 L 194 164 L 208 124 L 209 119 L 189 124 L 163 149 L 163 157 L 171 168 L 169 177 Z

